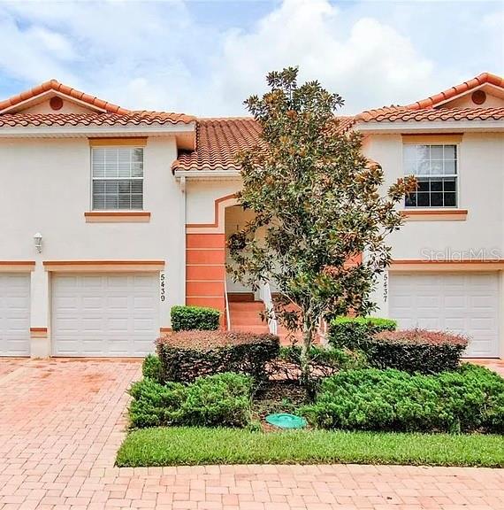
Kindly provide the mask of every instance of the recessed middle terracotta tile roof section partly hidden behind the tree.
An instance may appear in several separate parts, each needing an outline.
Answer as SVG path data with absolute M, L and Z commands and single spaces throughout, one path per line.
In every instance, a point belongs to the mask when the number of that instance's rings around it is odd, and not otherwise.
M 340 131 L 354 124 L 353 117 L 340 117 Z M 251 117 L 200 119 L 196 125 L 196 150 L 179 153 L 172 170 L 239 170 L 237 152 L 259 142 L 260 128 Z

